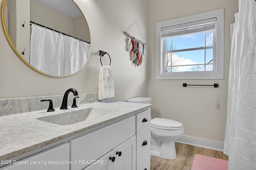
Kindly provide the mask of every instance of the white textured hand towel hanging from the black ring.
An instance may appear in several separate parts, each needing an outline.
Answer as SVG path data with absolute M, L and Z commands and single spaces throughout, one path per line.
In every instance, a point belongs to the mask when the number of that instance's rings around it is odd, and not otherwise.
M 99 77 L 99 94 L 98 99 L 115 97 L 114 76 L 111 67 L 102 65 Z

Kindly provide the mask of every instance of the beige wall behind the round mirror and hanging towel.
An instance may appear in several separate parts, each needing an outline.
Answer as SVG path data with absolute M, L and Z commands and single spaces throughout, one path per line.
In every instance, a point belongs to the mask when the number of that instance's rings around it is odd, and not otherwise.
M 2 4 L 3 0 L 0 0 Z M 147 52 L 141 66 L 135 67 L 126 51 L 126 31 L 135 21 L 140 26 L 145 42 L 148 41 L 148 0 L 75 0 L 86 16 L 92 37 L 92 51 L 87 65 L 76 75 L 52 78 L 41 75 L 23 63 L 4 38 L 0 28 L 0 99 L 64 95 L 68 88 L 79 93 L 98 92 L 101 67 L 99 50 L 111 56 L 115 93 L 113 101 L 148 95 L 146 65 Z M 133 26 L 129 33 L 138 39 L 140 33 Z M 148 46 L 146 46 L 146 50 Z M 105 55 L 104 55 L 105 57 Z M 108 62 L 108 57 L 106 62 Z

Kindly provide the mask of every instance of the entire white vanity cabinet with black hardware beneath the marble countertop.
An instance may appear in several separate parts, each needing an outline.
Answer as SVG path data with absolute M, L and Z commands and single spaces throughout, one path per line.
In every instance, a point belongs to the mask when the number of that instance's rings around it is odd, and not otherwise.
M 101 122 L 95 130 L 33 150 L 32 156 L 20 155 L 19 162 L 27 164 L 0 170 L 150 170 L 150 117 L 147 110 Z

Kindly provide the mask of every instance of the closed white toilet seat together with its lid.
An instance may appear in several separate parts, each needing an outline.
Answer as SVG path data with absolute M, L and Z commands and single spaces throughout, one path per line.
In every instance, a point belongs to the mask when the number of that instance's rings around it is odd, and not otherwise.
M 159 128 L 164 130 L 179 130 L 182 129 L 182 123 L 170 119 L 154 118 L 151 120 L 152 128 Z

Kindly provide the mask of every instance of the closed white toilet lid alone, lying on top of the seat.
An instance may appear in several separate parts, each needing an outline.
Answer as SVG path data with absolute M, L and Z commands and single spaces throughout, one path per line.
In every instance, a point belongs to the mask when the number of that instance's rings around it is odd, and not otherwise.
M 163 118 L 154 118 L 151 120 L 151 125 L 158 126 L 158 127 L 172 127 L 178 128 L 182 127 L 182 123 L 173 121 L 170 119 L 163 119 Z

